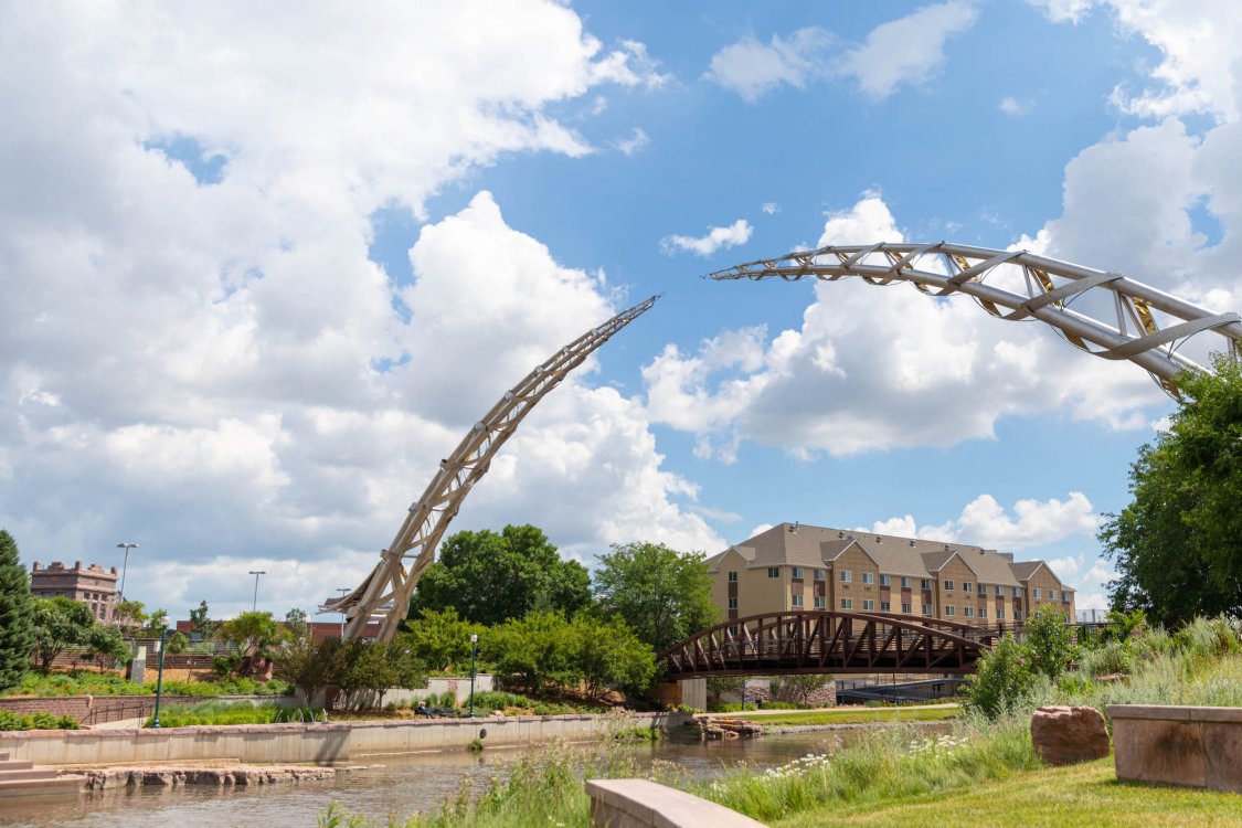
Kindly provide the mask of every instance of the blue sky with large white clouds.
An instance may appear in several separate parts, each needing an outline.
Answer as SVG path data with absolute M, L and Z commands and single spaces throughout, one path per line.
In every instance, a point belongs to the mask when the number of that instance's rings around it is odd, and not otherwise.
M 252 569 L 281 613 L 355 583 L 501 391 L 652 293 L 455 529 L 534 523 L 587 564 L 782 520 L 919 533 L 1103 606 L 1095 528 L 1171 411 L 1140 369 L 964 299 L 698 277 L 946 240 L 1242 305 L 1225 1 L 0 25 L 0 525 L 27 561 L 139 542 L 129 592 L 179 614 L 247 608 Z

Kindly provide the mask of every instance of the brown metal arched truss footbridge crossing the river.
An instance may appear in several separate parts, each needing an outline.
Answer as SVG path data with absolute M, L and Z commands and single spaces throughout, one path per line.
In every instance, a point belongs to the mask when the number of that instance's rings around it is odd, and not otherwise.
M 663 650 L 666 680 L 791 673 L 974 673 L 996 628 L 943 618 L 790 610 L 725 621 Z

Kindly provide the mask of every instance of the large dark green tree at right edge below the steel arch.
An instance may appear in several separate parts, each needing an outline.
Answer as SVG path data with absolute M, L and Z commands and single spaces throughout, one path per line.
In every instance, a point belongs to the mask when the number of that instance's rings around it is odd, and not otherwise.
M 1242 613 L 1242 367 L 1221 358 L 1179 386 L 1169 430 L 1130 467 L 1133 502 L 1099 533 L 1113 608 L 1169 627 Z

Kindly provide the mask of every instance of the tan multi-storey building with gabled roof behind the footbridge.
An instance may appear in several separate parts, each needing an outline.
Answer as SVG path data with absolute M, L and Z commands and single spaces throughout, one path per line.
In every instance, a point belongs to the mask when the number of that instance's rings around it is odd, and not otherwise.
M 1043 561 L 966 544 L 780 524 L 707 560 L 725 618 L 837 610 L 1021 624 L 1043 605 L 1072 622 L 1074 590 Z

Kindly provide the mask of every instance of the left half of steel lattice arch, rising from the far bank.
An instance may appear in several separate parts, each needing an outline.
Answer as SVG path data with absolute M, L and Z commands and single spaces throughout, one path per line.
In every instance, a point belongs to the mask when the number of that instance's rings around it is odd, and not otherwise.
M 457 515 L 471 488 L 487 474 L 492 458 L 518 425 L 549 391 L 606 343 L 614 334 L 646 313 L 658 295 L 622 310 L 602 325 L 592 328 L 556 351 L 548 361 L 530 371 L 466 434 L 447 459 L 422 497 L 410 505 L 410 514 L 392 544 L 380 552 L 380 562 L 353 592 L 324 602 L 320 612 L 344 612 L 347 639 L 364 634 L 373 618 L 379 617 L 381 641 L 396 634 L 410 607 L 410 596 L 422 572 L 435 559 L 436 546 L 448 524 Z M 412 559 L 406 566 L 406 559 Z

